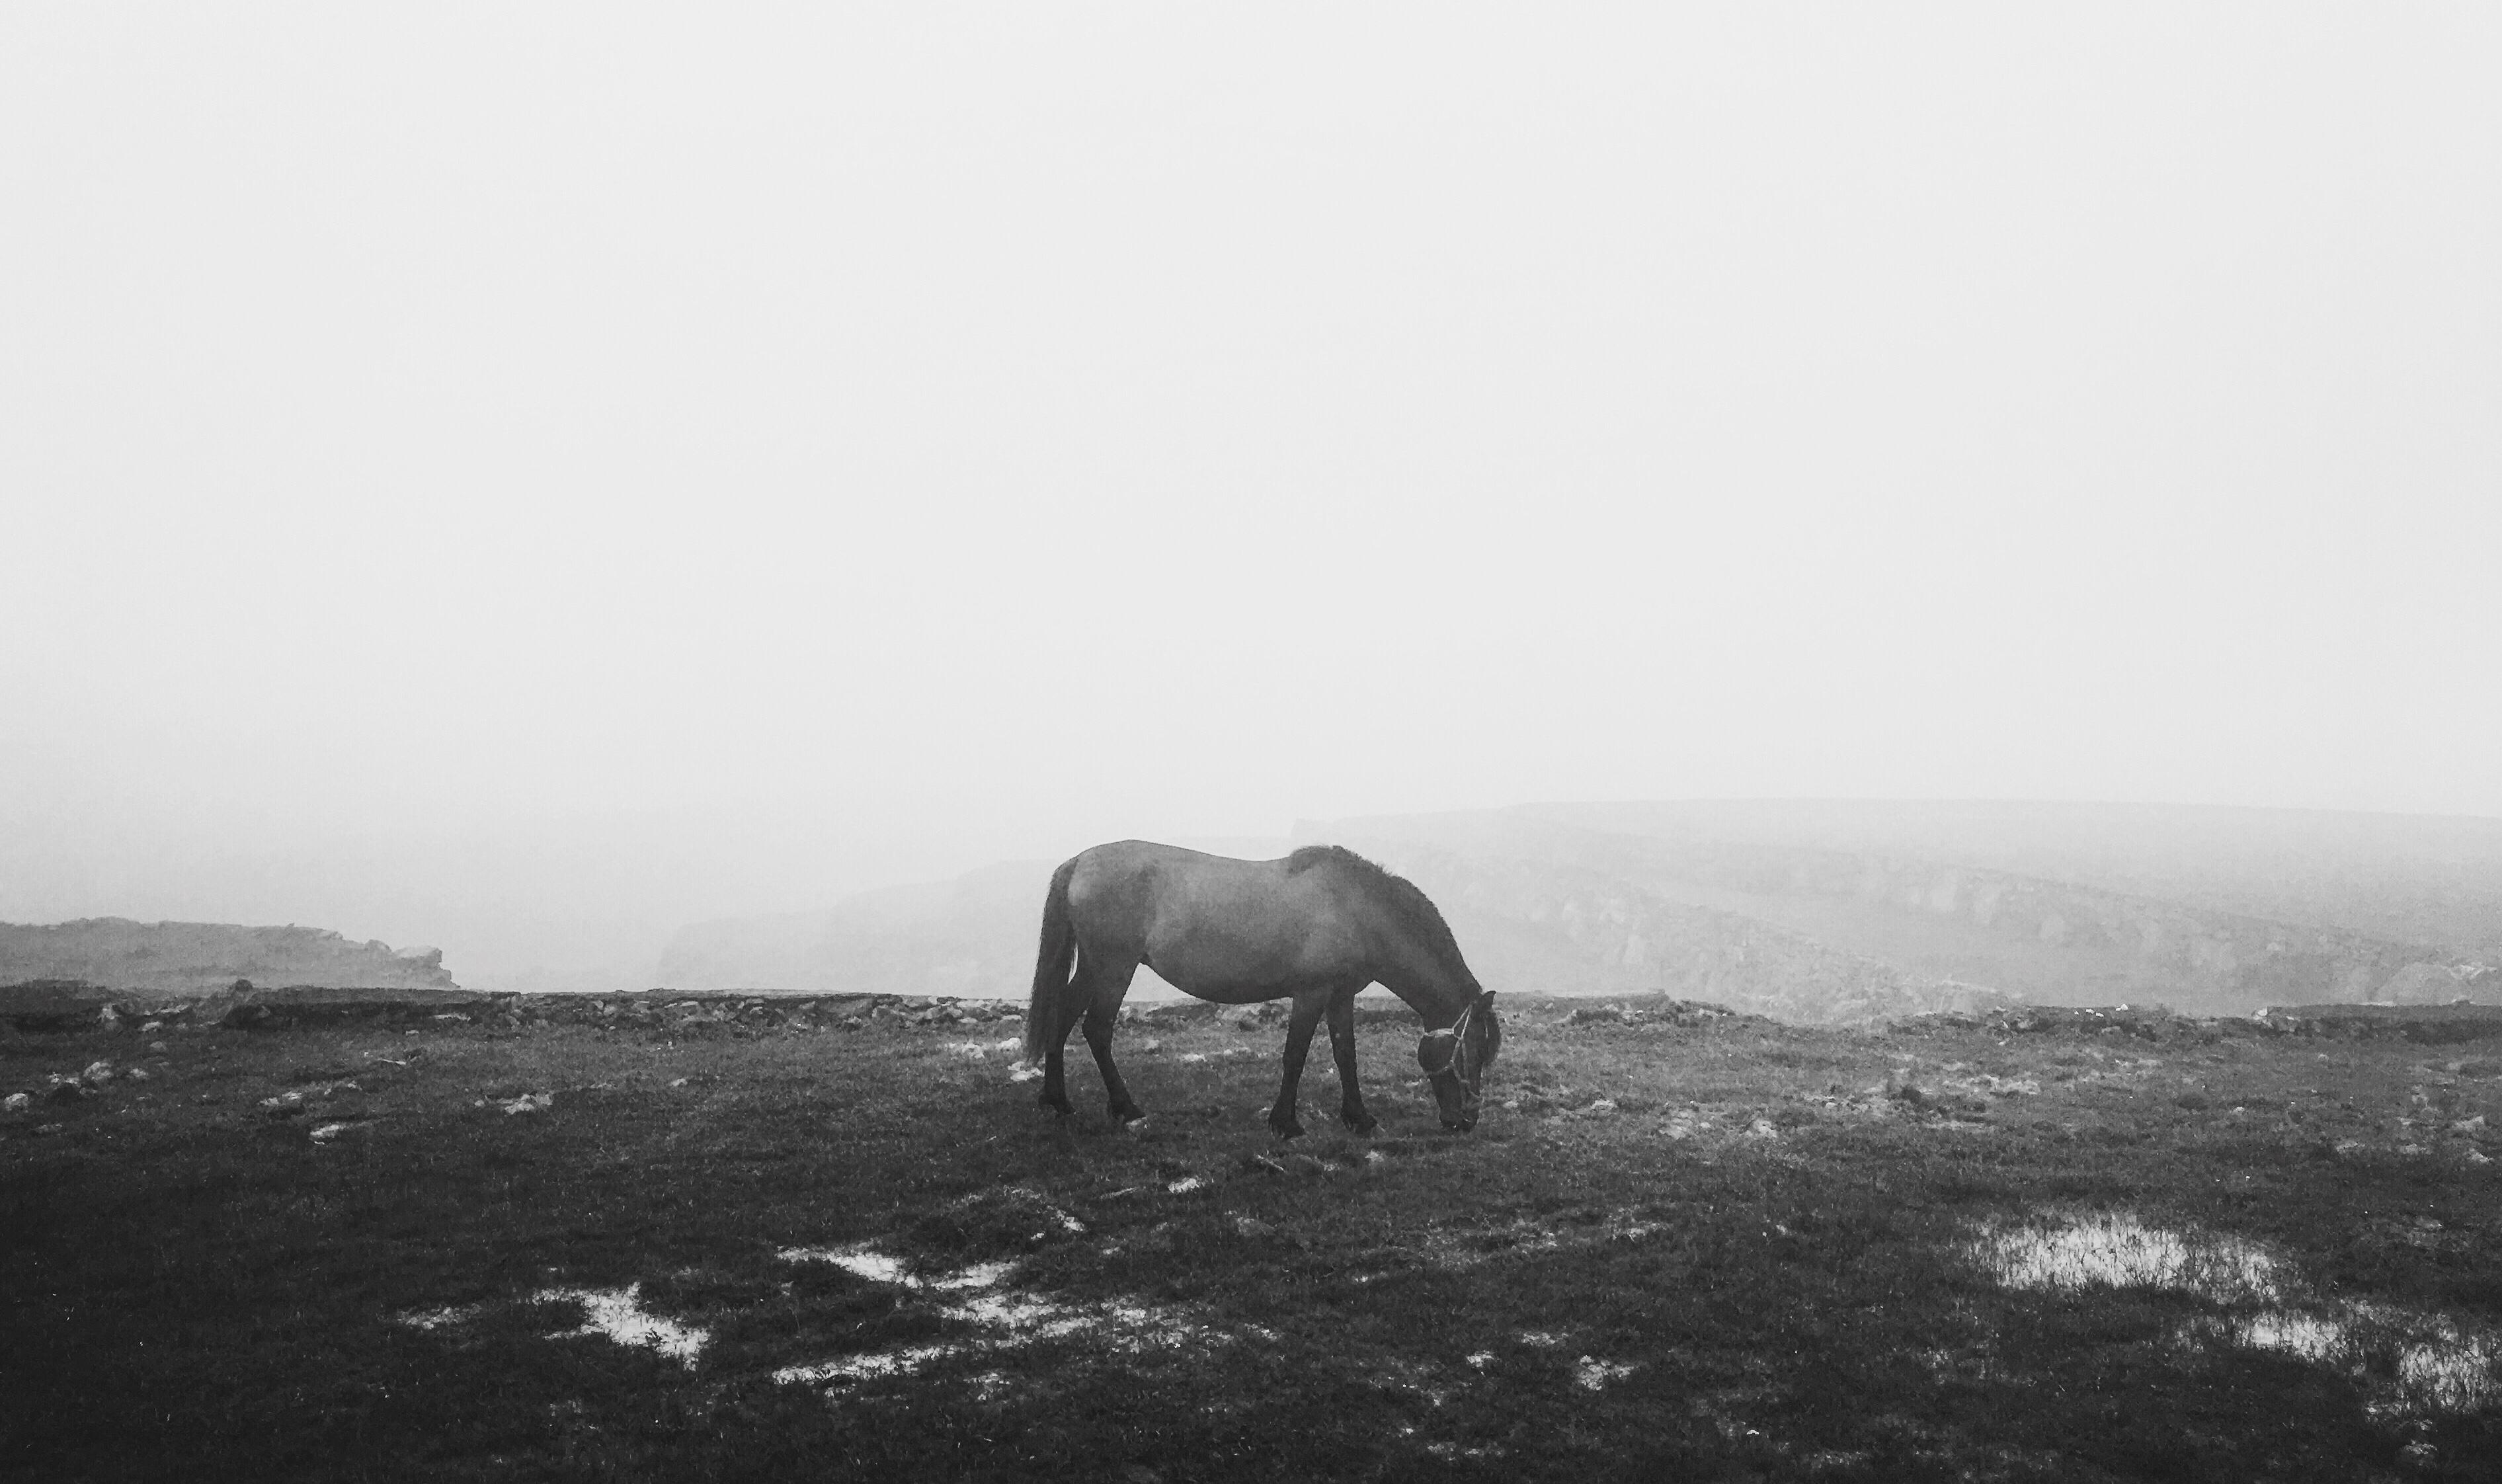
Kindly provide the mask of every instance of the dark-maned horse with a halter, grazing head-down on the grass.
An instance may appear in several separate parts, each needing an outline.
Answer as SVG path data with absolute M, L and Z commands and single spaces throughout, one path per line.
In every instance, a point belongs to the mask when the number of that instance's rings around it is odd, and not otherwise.
M 1068 1111 L 1061 1049 L 1086 1021 L 1111 1116 L 1123 1124 L 1146 1116 L 1111 1064 L 1111 1029 L 1141 963 L 1216 1004 L 1294 999 L 1286 1081 L 1269 1111 L 1281 1136 L 1304 1131 L 1294 1121 L 1294 1089 L 1324 1014 L 1339 1059 L 1339 1119 L 1356 1134 L 1379 1126 L 1356 1091 L 1356 994 L 1366 983 L 1381 983 L 1424 1016 L 1416 1064 L 1431 1074 L 1441 1126 L 1461 1134 L 1476 1126 L 1479 1086 L 1504 1044 L 1494 991 L 1469 973 L 1424 891 L 1354 851 L 1304 846 L 1284 861 L 1233 861 L 1118 841 L 1061 863 L 1043 898 L 1026 1016 L 1026 1059 L 1043 1064 L 1046 1109 Z

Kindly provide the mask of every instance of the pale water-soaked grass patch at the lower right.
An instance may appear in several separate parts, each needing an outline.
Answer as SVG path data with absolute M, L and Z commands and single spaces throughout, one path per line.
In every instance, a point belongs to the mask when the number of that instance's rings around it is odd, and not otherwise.
M 2194 1319 L 2174 1341 L 2269 1351 L 2354 1379 L 2374 1416 L 2502 1406 L 2502 1336 L 2394 1304 L 2332 1301 L 2257 1241 L 2132 1214 L 2049 1216 L 1982 1231 L 1964 1249 L 2009 1289 L 2167 1289 L 2239 1314 Z

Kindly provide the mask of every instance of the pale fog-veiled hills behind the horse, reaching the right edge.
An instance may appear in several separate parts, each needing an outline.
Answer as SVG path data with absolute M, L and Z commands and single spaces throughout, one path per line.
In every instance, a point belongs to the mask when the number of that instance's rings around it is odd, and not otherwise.
M 1491 988 L 1789 1021 L 1992 1004 L 2502 1001 L 2502 821 L 2069 803 L 1549 803 L 1299 823 L 1441 903 Z M 1223 848 L 1221 846 L 1221 848 Z M 673 988 L 1021 996 L 1048 861 L 678 933 Z M 1158 983 L 1141 976 L 1141 994 Z

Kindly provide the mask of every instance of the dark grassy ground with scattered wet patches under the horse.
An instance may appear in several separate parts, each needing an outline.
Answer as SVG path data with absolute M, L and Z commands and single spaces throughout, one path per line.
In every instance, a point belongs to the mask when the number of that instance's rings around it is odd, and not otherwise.
M 0 1039 L 0 1471 L 2502 1474 L 2492 1044 L 1569 1009 L 1294 1144 L 1276 1026 L 1138 1131 L 998 1024 Z

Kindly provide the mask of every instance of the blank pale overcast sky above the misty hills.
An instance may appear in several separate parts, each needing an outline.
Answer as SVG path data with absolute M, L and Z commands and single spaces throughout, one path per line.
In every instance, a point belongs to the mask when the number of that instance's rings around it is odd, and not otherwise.
M 2494 78 L 2482 3 L 13 3 L 0 918 L 503 973 L 1299 816 L 2502 813 Z

